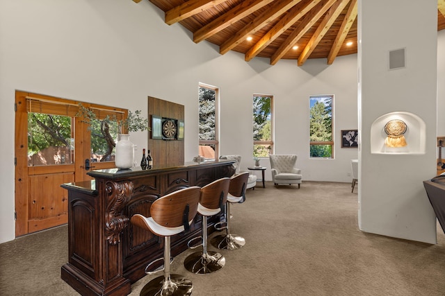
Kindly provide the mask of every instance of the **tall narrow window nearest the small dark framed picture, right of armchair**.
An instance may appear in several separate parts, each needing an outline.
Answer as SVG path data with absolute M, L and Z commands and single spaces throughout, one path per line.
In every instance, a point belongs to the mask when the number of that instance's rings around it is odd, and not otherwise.
M 334 158 L 333 95 L 309 97 L 310 157 Z

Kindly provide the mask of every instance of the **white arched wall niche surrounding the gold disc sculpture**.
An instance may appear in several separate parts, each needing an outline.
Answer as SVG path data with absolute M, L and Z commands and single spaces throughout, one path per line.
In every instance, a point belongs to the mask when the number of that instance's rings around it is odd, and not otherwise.
M 406 124 L 403 134 L 407 143 L 404 147 L 389 147 L 385 144 L 387 132 L 385 125 L 392 120 L 401 120 Z M 416 114 L 410 112 L 391 112 L 375 119 L 371 125 L 371 153 L 372 154 L 425 154 L 426 153 L 426 125 Z

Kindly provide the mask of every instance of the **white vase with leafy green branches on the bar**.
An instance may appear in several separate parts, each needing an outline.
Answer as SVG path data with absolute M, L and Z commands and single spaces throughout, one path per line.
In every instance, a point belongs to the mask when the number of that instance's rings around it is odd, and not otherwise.
M 88 129 L 96 130 L 97 134 L 105 139 L 108 144 L 108 155 L 111 155 L 115 148 L 115 165 L 118 168 L 131 168 L 134 162 L 134 146 L 129 140 L 128 132 L 138 132 L 150 130 L 148 119 L 140 115 L 141 111 L 129 111 L 127 118 L 118 119 L 115 115 L 107 115 L 104 119 L 97 118 L 94 109 L 83 106 L 79 103 L 79 112 L 77 116 L 83 117 L 83 122 L 88 123 Z M 95 127 L 95 128 L 93 128 Z M 118 130 L 118 141 L 111 135 L 111 130 Z M 123 133 L 125 132 L 125 133 Z

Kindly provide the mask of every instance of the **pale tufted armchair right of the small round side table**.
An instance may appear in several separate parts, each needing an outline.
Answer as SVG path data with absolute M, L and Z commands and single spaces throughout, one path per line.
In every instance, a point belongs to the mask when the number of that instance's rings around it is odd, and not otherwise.
M 270 171 L 275 185 L 279 184 L 300 184 L 302 175 L 300 168 L 296 168 L 297 155 L 269 155 Z

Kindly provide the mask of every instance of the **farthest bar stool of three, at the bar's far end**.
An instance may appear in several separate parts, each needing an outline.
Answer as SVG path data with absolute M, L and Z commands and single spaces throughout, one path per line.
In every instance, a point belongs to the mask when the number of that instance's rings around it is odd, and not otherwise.
M 211 239 L 210 243 L 220 250 L 237 250 L 245 245 L 245 239 L 230 233 L 230 204 L 241 203 L 245 200 L 245 189 L 248 184 L 249 173 L 241 173 L 230 179 L 229 194 L 225 205 L 226 226 L 216 229 L 226 229 L 226 234 L 220 234 Z

